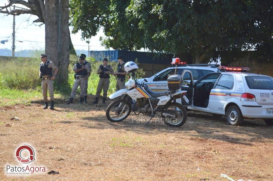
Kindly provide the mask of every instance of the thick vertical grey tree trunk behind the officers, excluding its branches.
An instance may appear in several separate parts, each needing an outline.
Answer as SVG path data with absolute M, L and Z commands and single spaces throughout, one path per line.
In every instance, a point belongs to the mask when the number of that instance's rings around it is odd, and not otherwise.
M 59 68 L 57 84 L 67 83 L 68 80 L 68 17 L 68 0 L 45 1 L 45 53 Z

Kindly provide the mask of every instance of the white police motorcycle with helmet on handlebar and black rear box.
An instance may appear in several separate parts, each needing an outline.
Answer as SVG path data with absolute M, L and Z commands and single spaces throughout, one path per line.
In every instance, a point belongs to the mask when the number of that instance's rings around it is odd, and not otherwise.
M 126 62 L 125 71 L 134 73 L 138 66 L 133 61 Z M 144 79 L 147 82 L 146 79 Z M 183 98 L 187 91 L 181 89 L 181 76 L 171 75 L 168 77 L 168 90 L 155 92 L 148 88 L 147 84 L 140 83 L 133 75 L 126 82 L 126 89 L 121 89 L 109 96 L 110 99 L 122 96 L 121 99 L 112 102 L 106 109 L 106 117 L 112 122 L 125 120 L 133 111 L 135 115 L 142 113 L 150 116 L 149 121 L 155 115 L 162 118 L 164 123 L 171 127 L 180 127 L 187 120 L 187 111 L 185 107 L 175 100 Z

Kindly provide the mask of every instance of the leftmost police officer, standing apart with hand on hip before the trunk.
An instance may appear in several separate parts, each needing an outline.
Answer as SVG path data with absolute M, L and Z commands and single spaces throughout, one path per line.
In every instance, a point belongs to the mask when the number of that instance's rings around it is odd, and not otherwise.
M 42 80 L 42 94 L 43 100 L 45 101 L 45 106 L 43 109 L 48 108 L 48 99 L 47 99 L 47 90 L 50 97 L 50 106 L 49 109 L 54 109 L 54 94 L 53 94 L 53 80 L 55 79 L 58 68 L 54 65 L 52 61 L 47 60 L 46 54 L 41 54 L 42 63 L 40 63 L 40 78 Z M 52 69 L 54 70 L 54 74 L 52 76 Z

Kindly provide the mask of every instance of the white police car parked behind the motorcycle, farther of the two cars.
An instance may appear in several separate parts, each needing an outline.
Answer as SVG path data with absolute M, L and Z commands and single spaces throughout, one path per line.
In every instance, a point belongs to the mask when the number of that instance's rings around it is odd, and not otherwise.
M 177 66 L 177 74 L 181 75 L 183 70 L 189 70 L 194 81 L 197 81 L 199 78 L 211 72 L 219 71 L 218 67 L 220 66 L 218 64 L 187 64 L 186 62 L 180 62 L 179 58 L 176 58 L 176 61 L 179 62 Z M 166 91 L 168 89 L 167 79 L 170 75 L 173 75 L 175 71 L 175 62 L 172 62 L 171 64 L 171 67 L 168 67 L 149 78 L 145 78 L 149 89 L 152 91 Z M 188 81 L 189 83 L 191 81 L 189 72 L 184 74 L 182 78 L 184 81 Z M 144 78 L 139 79 L 140 83 L 143 81 Z

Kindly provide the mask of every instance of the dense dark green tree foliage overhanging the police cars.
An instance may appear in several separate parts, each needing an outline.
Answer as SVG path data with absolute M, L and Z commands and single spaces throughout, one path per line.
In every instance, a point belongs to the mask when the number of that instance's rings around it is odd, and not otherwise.
M 73 32 L 82 30 L 83 38 L 96 35 L 103 26 L 106 38 L 101 41 L 107 48 L 189 53 L 195 63 L 219 57 L 222 62 L 227 61 L 240 56 L 242 50 L 257 50 L 272 56 L 271 0 L 102 0 L 99 3 L 107 6 L 102 8 L 97 1 L 70 0 L 71 8 L 77 9 L 70 15 L 71 25 Z

